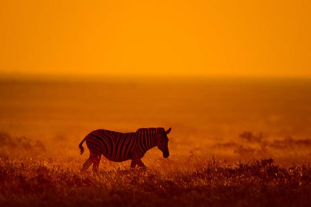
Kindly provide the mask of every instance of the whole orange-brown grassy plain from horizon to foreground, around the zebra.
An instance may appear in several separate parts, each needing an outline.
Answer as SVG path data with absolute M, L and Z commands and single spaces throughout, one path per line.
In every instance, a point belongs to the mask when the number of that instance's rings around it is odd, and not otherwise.
M 310 206 L 311 83 L 0 81 L 0 206 Z M 146 169 L 88 157 L 94 129 L 172 127 Z M 84 145 L 85 147 L 85 145 Z

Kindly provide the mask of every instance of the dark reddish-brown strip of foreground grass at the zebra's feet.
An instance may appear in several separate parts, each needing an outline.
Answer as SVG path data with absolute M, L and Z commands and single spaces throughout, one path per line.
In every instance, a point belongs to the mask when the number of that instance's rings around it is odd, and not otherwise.
M 308 206 L 311 167 L 272 159 L 229 165 L 196 156 L 149 160 L 147 169 L 101 167 L 81 160 L 1 158 L 1 206 Z M 152 164 L 151 164 L 152 163 Z M 188 164 L 188 165 L 187 165 Z M 186 165 L 186 166 L 185 166 Z

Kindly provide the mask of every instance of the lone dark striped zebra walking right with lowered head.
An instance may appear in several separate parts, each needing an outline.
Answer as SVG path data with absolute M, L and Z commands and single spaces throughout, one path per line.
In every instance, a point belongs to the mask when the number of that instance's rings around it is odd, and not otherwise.
M 90 165 L 93 164 L 93 172 L 99 172 L 99 162 L 101 155 L 108 160 L 122 162 L 132 160 L 131 167 L 145 167 L 141 158 L 146 154 L 146 151 L 157 146 L 162 151 L 163 157 L 169 157 L 169 147 L 167 134 L 171 128 L 165 131 L 164 128 L 140 128 L 136 132 L 120 133 L 106 129 L 98 129 L 92 131 L 79 144 L 80 154 L 83 154 L 83 142 L 86 142 L 87 148 L 90 151 L 90 157 L 87 158 L 82 172 L 85 172 Z

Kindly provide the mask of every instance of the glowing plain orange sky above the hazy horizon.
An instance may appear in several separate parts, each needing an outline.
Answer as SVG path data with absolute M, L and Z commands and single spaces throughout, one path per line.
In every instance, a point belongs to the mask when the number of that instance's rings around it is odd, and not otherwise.
M 310 76 L 310 0 L 0 2 L 0 74 Z

